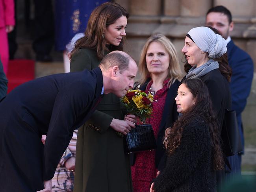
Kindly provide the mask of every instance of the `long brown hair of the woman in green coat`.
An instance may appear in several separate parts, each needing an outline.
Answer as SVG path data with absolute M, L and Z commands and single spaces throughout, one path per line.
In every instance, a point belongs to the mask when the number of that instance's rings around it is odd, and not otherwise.
M 122 16 L 128 19 L 129 13 L 118 3 L 107 2 L 96 7 L 89 18 L 85 36 L 76 41 L 70 58 L 80 48 L 95 50 L 99 59 L 102 59 L 106 52 L 122 51 L 125 37 L 122 38 L 119 46 L 109 45 L 108 47 L 105 38 L 102 37 L 104 29 Z

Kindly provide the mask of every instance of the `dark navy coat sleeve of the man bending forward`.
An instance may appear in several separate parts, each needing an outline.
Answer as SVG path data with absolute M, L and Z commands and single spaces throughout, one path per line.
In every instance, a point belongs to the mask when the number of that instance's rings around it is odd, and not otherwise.
M 85 85 L 83 81 L 76 85 L 75 89 L 65 87 L 65 89 L 59 90 L 56 96 L 45 141 L 44 180 L 52 179 L 54 176 L 59 159 L 73 135 L 74 130 L 71 130 L 70 127 L 73 126 L 82 111 L 88 108 L 94 98 L 93 85 L 89 83 Z M 86 89 L 81 89 L 81 87 L 86 87 Z

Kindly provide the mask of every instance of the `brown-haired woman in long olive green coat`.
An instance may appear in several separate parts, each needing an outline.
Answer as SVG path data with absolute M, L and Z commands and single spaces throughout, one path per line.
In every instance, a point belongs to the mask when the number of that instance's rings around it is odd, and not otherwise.
M 96 68 L 104 55 L 123 50 L 128 17 L 117 3 L 96 7 L 85 36 L 71 52 L 71 72 Z M 117 132 L 126 135 L 135 127 L 135 116 L 123 120 L 119 98 L 113 94 L 104 95 L 96 109 L 78 131 L 74 192 L 131 192 L 129 157 Z

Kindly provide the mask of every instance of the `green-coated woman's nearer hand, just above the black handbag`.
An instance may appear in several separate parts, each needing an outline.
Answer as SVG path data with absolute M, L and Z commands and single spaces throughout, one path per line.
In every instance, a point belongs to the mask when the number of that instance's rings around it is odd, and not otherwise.
M 113 118 L 109 126 L 112 127 L 115 131 L 127 135 L 127 133 L 129 133 L 130 130 L 135 127 L 135 123 L 129 120 L 119 120 Z

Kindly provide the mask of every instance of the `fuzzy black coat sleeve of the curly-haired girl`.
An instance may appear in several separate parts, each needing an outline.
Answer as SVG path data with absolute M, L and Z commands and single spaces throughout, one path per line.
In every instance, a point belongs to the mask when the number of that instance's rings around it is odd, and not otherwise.
M 202 153 L 208 149 L 205 126 L 195 121 L 184 127 L 180 146 L 167 157 L 165 169 L 153 180 L 156 192 L 172 191 L 197 168 Z

